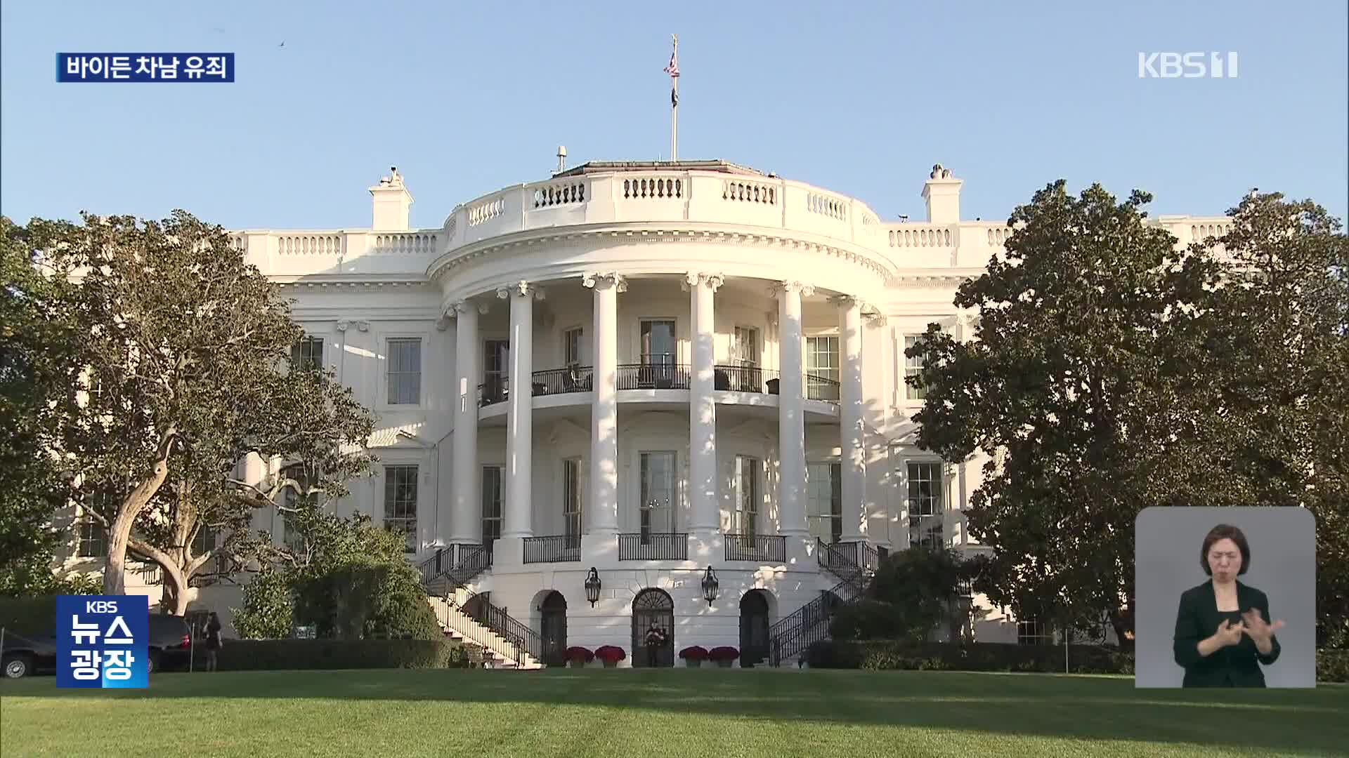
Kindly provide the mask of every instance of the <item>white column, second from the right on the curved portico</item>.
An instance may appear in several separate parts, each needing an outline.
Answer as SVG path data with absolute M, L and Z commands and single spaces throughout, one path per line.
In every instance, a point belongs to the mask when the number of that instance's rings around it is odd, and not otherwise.
M 781 370 L 777 413 L 778 513 L 781 533 L 805 537 L 805 392 L 801 360 L 801 295 L 813 287 L 782 282 L 777 289 L 778 366 Z

